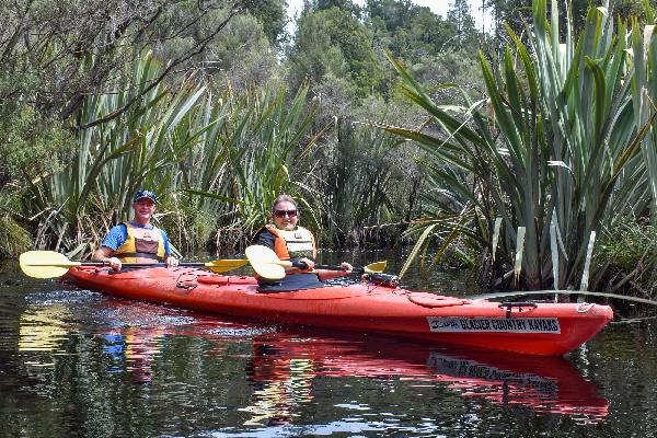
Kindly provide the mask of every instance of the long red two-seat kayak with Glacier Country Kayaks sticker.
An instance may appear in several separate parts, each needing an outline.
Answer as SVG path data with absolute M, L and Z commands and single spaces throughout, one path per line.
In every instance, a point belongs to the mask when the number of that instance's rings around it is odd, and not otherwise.
M 366 283 L 263 293 L 253 277 L 185 267 L 113 273 L 80 266 L 68 278 L 113 296 L 204 312 L 542 356 L 577 348 L 613 318 L 600 304 L 498 303 Z

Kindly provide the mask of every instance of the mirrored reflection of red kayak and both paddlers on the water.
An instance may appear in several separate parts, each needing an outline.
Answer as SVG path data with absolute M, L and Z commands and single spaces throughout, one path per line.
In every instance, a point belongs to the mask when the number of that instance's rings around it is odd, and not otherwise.
M 416 388 L 440 382 L 463 397 L 566 414 L 580 423 L 597 423 L 608 415 L 609 403 L 598 395 L 597 387 L 563 358 L 438 348 L 377 336 L 336 338 L 316 330 L 304 335 L 254 331 L 203 318 L 184 325 L 128 326 L 105 333 L 104 351 L 113 359 L 107 371 L 120 371 L 125 362 L 134 382 L 150 382 L 153 360 L 172 335 L 210 341 L 214 355 L 224 353 L 227 343 L 252 345 L 245 371 L 253 393 L 250 404 L 239 408 L 249 414 L 244 426 L 293 423 L 302 406 L 312 403 L 318 377 L 405 381 Z

